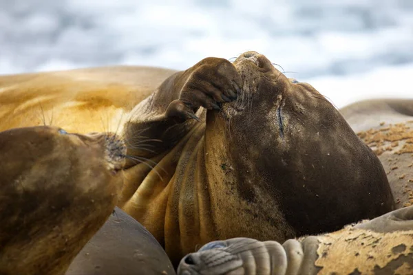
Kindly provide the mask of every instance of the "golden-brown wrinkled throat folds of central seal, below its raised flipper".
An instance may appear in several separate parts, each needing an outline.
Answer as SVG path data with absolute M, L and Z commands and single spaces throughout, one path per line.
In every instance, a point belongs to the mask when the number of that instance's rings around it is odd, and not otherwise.
M 209 241 L 293 237 L 277 205 L 268 203 L 273 202 L 271 195 L 254 186 L 257 173 L 237 170 L 231 155 L 237 140 L 229 131 L 230 121 L 202 108 L 197 115 L 202 122 L 192 122 L 171 150 L 151 157 L 148 164 L 158 163 L 153 170 L 137 164 L 125 171 L 119 206 L 156 237 L 175 265 Z M 134 184 L 137 190 L 128 199 Z M 249 196 L 255 192 L 260 194 Z

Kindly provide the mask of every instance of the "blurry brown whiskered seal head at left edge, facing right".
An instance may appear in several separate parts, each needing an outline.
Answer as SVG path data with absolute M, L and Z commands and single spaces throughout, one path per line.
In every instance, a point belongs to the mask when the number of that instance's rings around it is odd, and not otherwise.
M 0 273 L 64 273 L 112 213 L 124 154 L 113 134 L 1 132 Z

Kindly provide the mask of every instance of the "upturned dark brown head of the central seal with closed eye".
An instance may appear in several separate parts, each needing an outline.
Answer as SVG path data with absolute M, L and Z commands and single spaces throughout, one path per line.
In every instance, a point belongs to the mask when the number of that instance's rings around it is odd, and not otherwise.
M 393 209 L 379 159 L 324 96 L 257 52 L 233 65 L 243 87 L 221 111 L 208 111 L 205 133 L 207 163 L 222 182 L 211 188 L 217 208 L 238 207 L 224 206 L 231 197 L 246 201 L 222 221 L 249 213 L 256 232 L 243 236 L 257 238 L 282 227 L 281 212 L 296 234 L 317 234 Z

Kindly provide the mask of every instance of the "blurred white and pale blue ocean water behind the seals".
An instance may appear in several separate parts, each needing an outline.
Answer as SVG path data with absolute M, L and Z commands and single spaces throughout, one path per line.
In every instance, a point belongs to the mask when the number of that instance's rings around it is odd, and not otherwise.
M 337 107 L 413 98 L 413 0 L 0 0 L 0 74 L 186 69 L 247 50 Z

